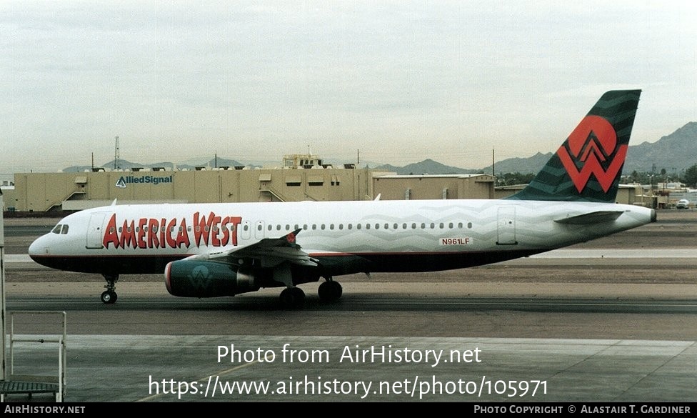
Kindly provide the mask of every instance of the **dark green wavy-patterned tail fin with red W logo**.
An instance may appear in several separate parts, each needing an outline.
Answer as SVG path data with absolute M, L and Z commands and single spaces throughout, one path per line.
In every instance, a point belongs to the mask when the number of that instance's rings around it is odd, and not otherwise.
M 640 94 L 603 94 L 535 179 L 507 199 L 614 202 Z

